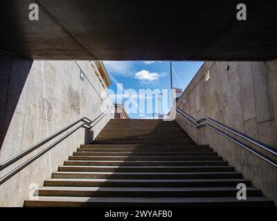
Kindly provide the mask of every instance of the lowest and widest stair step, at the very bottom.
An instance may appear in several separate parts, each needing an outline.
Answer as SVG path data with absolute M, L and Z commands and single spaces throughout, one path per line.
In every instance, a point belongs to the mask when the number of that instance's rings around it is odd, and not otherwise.
M 253 196 L 247 200 L 225 198 L 75 198 L 38 197 L 26 200 L 24 206 L 274 206 L 267 198 Z

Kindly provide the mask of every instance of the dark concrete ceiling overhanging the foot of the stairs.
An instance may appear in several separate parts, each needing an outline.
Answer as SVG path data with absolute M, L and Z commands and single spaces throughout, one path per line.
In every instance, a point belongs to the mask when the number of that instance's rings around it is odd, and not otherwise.
M 238 3 L 247 21 L 236 19 Z M 30 3 L 39 21 L 30 21 Z M 277 58 L 277 1 L 1 0 L 0 48 L 32 59 Z

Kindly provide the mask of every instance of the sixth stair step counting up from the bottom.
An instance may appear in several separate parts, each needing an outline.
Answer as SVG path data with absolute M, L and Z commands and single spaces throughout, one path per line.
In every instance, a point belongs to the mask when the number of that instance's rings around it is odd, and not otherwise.
M 228 166 L 226 161 L 96 161 L 68 160 L 64 166 Z

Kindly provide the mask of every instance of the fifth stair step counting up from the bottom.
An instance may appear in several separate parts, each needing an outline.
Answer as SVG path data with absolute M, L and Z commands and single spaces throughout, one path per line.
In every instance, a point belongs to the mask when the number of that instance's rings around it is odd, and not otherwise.
M 234 172 L 232 166 L 60 166 L 75 172 Z

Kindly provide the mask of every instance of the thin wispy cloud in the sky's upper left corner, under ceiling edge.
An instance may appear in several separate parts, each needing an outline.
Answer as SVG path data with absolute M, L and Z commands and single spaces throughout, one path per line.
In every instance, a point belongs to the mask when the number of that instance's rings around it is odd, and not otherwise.
M 134 63 L 132 61 L 104 61 L 109 75 L 120 75 L 123 77 L 134 75 Z

